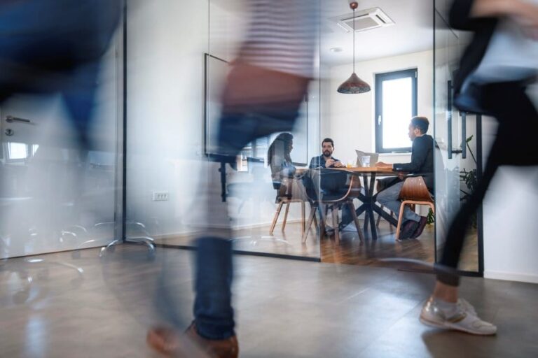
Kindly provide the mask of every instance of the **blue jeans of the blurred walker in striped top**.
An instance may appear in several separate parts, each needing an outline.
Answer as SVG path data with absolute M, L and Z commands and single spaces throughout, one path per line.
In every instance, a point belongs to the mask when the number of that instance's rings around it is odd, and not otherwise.
M 247 143 L 277 131 L 293 129 L 298 115 L 298 103 L 289 106 L 276 103 L 270 110 L 253 108 L 245 113 L 223 113 L 219 123 L 218 150 L 210 159 L 215 162 L 235 162 L 235 157 Z M 216 183 L 215 183 L 216 184 Z M 218 184 L 217 184 L 218 185 Z M 212 203 L 221 200 L 216 185 L 202 188 L 207 195 L 207 211 Z M 217 215 L 220 214 L 220 215 Z M 223 213 L 212 213 L 211 217 Z M 235 335 L 231 285 L 233 280 L 232 242 L 228 229 L 212 231 L 207 222 L 207 233 L 197 239 L 195 260 L 194 323 L 200 336 L 209 339 L 226 339 Z

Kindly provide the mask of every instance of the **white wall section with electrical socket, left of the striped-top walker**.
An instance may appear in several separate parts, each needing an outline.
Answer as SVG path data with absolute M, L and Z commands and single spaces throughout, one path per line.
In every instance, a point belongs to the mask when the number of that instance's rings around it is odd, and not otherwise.
M 150 234 L 184 227 L 198 178 L 208 1 L 130 1 L 127 15 L 127 218 Z M 168 201 L 153 201 L 168 192 Z

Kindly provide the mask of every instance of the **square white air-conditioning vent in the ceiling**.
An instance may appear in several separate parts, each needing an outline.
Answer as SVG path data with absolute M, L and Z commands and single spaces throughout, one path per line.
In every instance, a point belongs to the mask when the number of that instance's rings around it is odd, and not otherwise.
M 331 17 L 329 21 L 340 27 L 340 31 L 353 31 L 353 13 Z M 357 32 L 387 27 L 393 24 L 394 21 L 380 8 L 355 11 L 355 31 Z

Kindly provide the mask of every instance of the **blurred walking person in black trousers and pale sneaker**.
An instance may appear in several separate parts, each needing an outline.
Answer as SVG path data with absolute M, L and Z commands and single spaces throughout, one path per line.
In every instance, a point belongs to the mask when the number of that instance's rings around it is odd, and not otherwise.
M 538 113 L 526 94 L 537 78 L 538 59 L 498 48 L 503 37 L 513 37 L 509 43 L 519 45 L 521 52 L 537 50 L 538 1 L 533 1 L 455 0 L 450 10 L 453 28 L 474 31 L 455 78 L 455 105 L 492 115 L 499 127 L 483 177 L 450 224 L 434 293 L 420 313 L 420 321 L 429 326 L 478 335 L 497 332 L 469 302 L 458 298 L 460 282 L 455 272 L 471 215 L 482 203 L 497 168 L 538 164 Z M 500 57 L 506 56 L 513 57 L 511 63 L 502 63 Z M 518 61 L 523 63 L 516 65 Z

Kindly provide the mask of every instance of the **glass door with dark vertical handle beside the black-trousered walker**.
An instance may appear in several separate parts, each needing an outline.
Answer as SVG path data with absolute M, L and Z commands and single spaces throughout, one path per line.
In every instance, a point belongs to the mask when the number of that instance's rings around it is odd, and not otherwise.
M 481 117 L 453 106 L 453 78 L 468 35 L 448 24 L 450 1 L 434 0 L 434 126 L 436 260 L 451 220 L 474 189 L 481 171 Z M 467 230 L 460 270 L 481 273 L 480 215 Z

